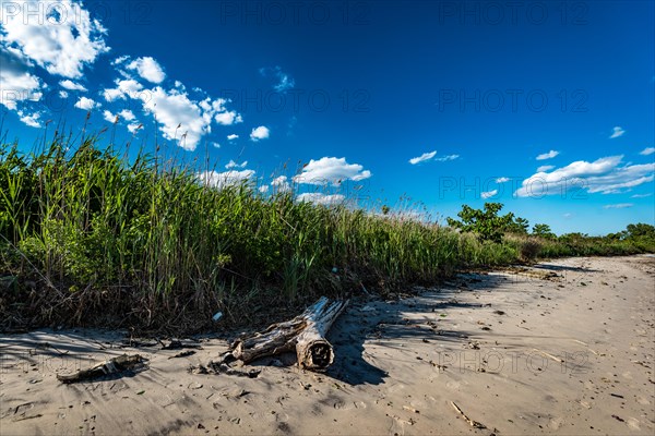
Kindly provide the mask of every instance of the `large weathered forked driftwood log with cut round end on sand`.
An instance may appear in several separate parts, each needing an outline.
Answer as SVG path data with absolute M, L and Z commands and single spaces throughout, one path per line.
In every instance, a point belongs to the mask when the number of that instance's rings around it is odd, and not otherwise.
M 347 304 L 347 300 L 331 302 L 321 296 L 294 319 L 273 324 L 262 332 L 237 339 L 231 346 L 231 355 L 249 363 L 295 349 L 298 366 L 323 371 L 334 361 L 334 351 L 325 335 Z

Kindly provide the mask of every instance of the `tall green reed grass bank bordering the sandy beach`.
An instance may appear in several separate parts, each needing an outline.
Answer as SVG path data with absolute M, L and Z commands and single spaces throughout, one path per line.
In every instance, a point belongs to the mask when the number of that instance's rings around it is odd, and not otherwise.
M 386 293 L 465 268 L 653 250 L 651 240 L 584 237 L 480 242 L 402 215 L 299 203 L 289 192 L 219 190 L 190 169 L 163 170 L 147 155 L 128 161 L 99 144 L 91 136 L 71 147 L 56 136 L 28 156 L 0 145 L 0 327 L 192 331 L 210 328 L 217 311 L 249 323 L 319 294 Z

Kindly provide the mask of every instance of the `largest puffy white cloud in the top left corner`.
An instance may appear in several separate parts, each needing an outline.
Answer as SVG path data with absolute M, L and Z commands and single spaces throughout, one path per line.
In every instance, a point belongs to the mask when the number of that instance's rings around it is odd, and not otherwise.
M 4 14 L 2 44 L 16 46 L 50 74 L 79 78 L 84 66 L 109 50 L 103 38 L 107 31 L 91 19 L 82 3 L 60 0 L 53 4 L 44 8 L 41 1 L 20 2 L 16 14 Z

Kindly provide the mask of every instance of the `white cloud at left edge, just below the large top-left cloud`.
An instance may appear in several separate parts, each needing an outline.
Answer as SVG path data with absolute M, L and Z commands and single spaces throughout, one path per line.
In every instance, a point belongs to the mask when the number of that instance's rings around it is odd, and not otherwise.
M 0 33 L 0 44 L 1 35 Z M 9 110 L 17 110 L 22 101 L 40 100 L 41 88 L 46 85 L 29 72 L 31 63 L 24 56 L 0 45 L 0 105 Z

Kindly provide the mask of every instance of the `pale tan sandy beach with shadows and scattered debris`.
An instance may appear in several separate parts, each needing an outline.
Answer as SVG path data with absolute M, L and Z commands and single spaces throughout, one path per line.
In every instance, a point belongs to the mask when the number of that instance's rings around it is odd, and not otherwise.
M 330 332 L 326 374 L 283 356 L 253 365 L 257 378 L 188 372 L 217 359 L 222 339 L 169 359 L 180 350 L 126 347 L 119 331 L 2 335 L 0 433 L 652 435 L 654 300 L 648 256 L 467 274 L 353 302 Z M 122 353 L 148 367 L 56 378 Z

